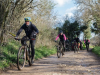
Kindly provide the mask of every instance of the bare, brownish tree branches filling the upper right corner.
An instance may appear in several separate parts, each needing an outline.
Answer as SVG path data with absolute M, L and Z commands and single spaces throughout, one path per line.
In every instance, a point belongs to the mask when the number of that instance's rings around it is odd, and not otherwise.
M 93 22 L 92 31 L 96 34 L 100 33 L 100 0 L 75 0 L 75 2 L 79 6 L 82 16 L 80 19 L 84 24 Z

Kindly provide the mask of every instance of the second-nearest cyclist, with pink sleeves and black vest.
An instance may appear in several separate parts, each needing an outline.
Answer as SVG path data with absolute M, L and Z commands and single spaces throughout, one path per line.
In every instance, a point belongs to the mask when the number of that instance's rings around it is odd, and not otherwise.
M 62 43 L 64 51 L 65 51 L 66 36 L 65 36 L 65 34 L 63 34 L 63 31 L 60 31 L 60 33 L 58 34 L 58 36 L 55 39 L 55 42 L 57 41 L 58 38 L 60 38 L 60 42 Z M 60 42 L 59 42 L 59 44 L 60 44 Z M 63 55 L 64 55 L 64 51 L 62 51 Z

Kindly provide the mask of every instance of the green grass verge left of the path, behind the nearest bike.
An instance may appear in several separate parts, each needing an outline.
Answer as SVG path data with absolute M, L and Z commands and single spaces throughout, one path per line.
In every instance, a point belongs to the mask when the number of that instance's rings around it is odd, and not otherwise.
M 11 41 L 6 46 L 0 47 L 0 68 L 9 67 L 17 62 L 17 52 L 21 46 L 20 42 Z M 55 48 L 39 47 L 35 49 L 35 60 L 55 54 Z

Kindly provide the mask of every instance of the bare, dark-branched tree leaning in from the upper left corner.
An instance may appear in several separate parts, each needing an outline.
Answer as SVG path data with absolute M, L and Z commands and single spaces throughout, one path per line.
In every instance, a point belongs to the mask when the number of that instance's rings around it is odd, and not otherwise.
M 36 2 L 35 0 L 0 0 L 0 44 L 7 30 L 12 30 L 16 21 L 18 24 L 23 15 L 35 8 L 38 5 Z

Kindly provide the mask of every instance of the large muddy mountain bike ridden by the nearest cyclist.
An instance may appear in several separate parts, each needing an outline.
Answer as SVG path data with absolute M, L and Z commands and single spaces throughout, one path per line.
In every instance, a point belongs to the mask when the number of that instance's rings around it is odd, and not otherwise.
M 28 61 L 29 66 L 32 66 L 32 53 L 31 53 L 31 45 L 27 45 L 27 41 L 35 40 L 35 38 L 32 39 L 15 39 L 18 41 L 21 41 L 22 46 L 19 48 L 18 54 L 17 54 L 17 68 L 18 70 L 21 70 L 25 66 L 25 62 Z

